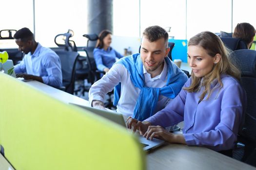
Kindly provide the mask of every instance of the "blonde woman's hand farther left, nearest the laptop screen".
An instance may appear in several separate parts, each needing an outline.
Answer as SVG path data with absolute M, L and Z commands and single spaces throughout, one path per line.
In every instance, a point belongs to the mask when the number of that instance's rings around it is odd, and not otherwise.
M 140 135 L 144 135 L 144 133 L 147 131 L 148 127 L 151 125 L 149 121 L 139 121 L 137 119 L 133 119 L 132 117 L 127 118 L 127 128 L 132 129 L 133 132 L 136 132 L 136 130 L 139 130 Z

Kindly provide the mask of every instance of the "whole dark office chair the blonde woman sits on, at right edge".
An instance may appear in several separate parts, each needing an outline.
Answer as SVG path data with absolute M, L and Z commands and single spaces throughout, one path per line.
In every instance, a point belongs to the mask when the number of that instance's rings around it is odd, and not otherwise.
M 256 166 L 256 51 L 237 50 L 231 53 L 231 57 L 241 71 L 241 85 L 247 95 L 244 124 L 238 133 L 233 157 Z

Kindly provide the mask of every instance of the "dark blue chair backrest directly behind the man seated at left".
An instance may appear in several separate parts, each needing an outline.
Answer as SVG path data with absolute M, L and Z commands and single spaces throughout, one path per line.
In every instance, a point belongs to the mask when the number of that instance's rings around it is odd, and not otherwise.
M 75 66 L 79 53 L 75 51 L 56 51 L 59 55 L 62 71 L 62 85 L 65 91 L 73 94 L 75 84 Z

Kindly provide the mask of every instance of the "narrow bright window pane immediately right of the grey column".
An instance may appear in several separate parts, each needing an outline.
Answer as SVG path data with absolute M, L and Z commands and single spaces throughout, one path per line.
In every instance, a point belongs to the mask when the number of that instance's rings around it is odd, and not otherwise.
M 113 0 L 113 34 L 139 36 L 139 0 Z

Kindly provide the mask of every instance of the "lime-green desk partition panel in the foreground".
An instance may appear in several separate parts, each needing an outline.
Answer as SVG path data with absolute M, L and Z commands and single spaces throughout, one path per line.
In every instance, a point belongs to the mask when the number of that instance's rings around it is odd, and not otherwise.
M 16 170 L 144 170 L 136 136 L 0 73 L 0 145 Z

